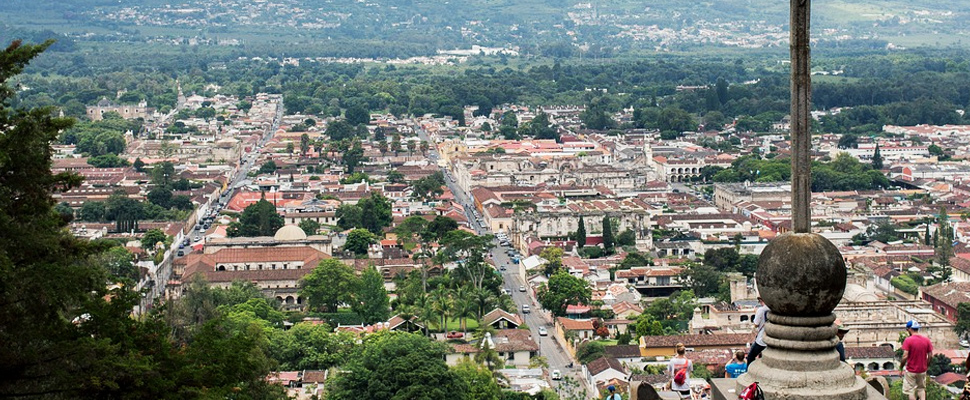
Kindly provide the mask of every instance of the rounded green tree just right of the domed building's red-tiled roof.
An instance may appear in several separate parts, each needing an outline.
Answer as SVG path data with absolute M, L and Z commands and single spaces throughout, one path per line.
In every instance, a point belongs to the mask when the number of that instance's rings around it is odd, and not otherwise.
M 320 262 L 313 272 L 300 279 L 300 295 L 313 309 L 337 312 L 340 303 L 351 303 L 360 287 L 354 269 L 333 258 Z

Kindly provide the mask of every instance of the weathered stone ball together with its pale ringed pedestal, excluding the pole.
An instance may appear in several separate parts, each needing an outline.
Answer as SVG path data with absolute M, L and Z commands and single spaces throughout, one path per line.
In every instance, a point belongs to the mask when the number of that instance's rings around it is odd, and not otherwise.
M 787 233 L 768 244 L 758 262 L 758 290 L 771 310 L 768 348 L 738 378 L 738 393 L 758 382 L 768 400 L 869 398 L 866 382 L 835 351 L 832 310 L 845 279 L 841 254 L 820 235 Z

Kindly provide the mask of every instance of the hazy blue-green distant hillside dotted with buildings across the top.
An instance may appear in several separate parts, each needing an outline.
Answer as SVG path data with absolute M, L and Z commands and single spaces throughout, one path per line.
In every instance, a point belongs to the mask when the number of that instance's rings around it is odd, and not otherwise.
M 53 12 L 52 12 L 53 10 Z M 74 40 L 223 45 L 396 57 L 472 45 L 604 57 L 787 48 L 778 0 L 6 0 L 0 23 Z M 965 0 L 816 1 L 819 46 L 970 44 Z M 968 40 L 964 40 L 968 39 Z M 346 54 L 345 54 L 346 53 Z

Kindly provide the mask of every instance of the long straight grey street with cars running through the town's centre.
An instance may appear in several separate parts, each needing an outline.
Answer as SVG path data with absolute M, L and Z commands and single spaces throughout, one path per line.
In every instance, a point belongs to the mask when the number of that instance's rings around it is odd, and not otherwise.
M 420 129 L 420 127 L 415 127 L 415 130 L 417 131 L 421 140 L 432 143 L 431 139 L 427 135 L 427 132 Z M 430 146 L 430 149 L 431 150 L 429 151 L 428 158 L 432 162 L 436 163 L 438 161 L 438 154 L 435 151 L 435 146 Z M 468 193 L 465 193 L 465 191 L 458 186 L 447 170 L 443 172 L 445 175 L 445 184 L 454 194 L 455 200 L 465 208 L 465 217 L 468 218 L 468 221 L 474 230 L 480 235 L 491 234 L 491 231 L 481 227 L 478 219 L 475 217 L 473 212 L 473 210 L 475 210 L 473 206 L 474 203 L 472 203 Z M 508 251 L 509 248 L 501 246 L 497 240 L 494 242 L 494 244 L 495 248 L 491 251 L 492 261 L 495 262 L 496 266 L 506 267 L 506 270 L 502 272 L 502 278 L 505 282 L 504 286 L 506 289 L 511 291 L 512 300 L 515 301 L 515 304 L 519 307 L 519 315 L 523 317 L 525 324 L 529 326 L 529 330 L 532 332 L 532 337 L 535 338 L 536 343 L 539 344 L 539 355 L 545 357 L 546 361 L 549 363 L 549 372 L 551 373 L 553 370 L 559 370 L 563 375 L 571 376 L 572 378 L 578 380 L 580 378 L 581 371 L 579 368 L 579 363 L 576 363 L 569 353 L 563 349 L 562 345 L 552 336 L 555 329 L 552 326 L 551 314 L 539 306 L 539 303 L 535 300 L 535 297 L 533 296 L 534 293 L 532 293 L 531 289 L 529 289 L 527 282 L 524 282 L 521 276 L 516 273 L 520 265 L 513 264 L 508 254 L 506 254 L 506 251 Z M 523 286 L 527 291 L 520 292 L 519 288 Z M 528 305 L 532 312 L 522 314 L 521 310 L 523 305 Z M 540 336 L 539 327 L 546 328 L 549 336 Z M 573 364 L 574 368 L 569 368 L 570 364 Z M 552 385 L 553 389 L 555 389 L 559 386 L 559 382 L 552 381 Z M 585 388 L 585 385 L 582 387 Z

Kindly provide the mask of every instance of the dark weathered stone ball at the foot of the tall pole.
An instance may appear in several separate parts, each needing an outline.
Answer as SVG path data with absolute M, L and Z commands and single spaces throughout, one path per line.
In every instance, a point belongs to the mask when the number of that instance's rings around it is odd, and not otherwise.
M 828 239 L 814 233 L 778 236 L 758 260 L 758 293 L 772 313 L 829 315 L 845 292 L 845 261 Z

